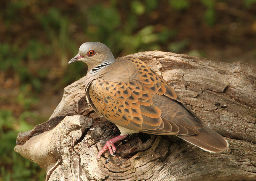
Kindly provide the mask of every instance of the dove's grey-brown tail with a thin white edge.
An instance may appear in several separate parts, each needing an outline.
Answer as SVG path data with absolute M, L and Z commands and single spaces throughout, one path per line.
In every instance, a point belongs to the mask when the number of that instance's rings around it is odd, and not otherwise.
M 211 128 L 205 126 L 198 131 L 195 135 L 178 137 L 208 152 L 218 153 L 228 148 L 228 141 Z

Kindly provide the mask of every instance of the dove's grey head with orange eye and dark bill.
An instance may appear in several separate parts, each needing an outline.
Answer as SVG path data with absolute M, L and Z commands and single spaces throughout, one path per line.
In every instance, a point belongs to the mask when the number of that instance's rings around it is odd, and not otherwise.
M 100 42 L 83 43 L 78 51 L 78 54 L 68 64 L 75 61 L 82 61 L 88 65 L 89 69 L 98 67 L 101 64 L 110 64 L 116 59 L 109 48 Z

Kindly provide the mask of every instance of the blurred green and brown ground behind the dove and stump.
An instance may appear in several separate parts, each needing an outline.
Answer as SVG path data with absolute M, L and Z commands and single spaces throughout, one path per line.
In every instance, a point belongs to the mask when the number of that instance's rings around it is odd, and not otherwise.
M 171 51 L 256 65 L 256 0 L 1 0 L 0 181 L 44 180 L 13 151 L 48 120 L 63 88 L 86 74 L 68 60 L 99 41 L 115 57 Z

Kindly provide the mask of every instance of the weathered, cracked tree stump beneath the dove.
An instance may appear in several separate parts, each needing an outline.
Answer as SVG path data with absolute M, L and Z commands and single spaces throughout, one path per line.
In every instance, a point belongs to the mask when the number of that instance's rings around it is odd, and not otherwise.
M 20 133 L 16 152 L 44 167 L 46 180 L 256 180 L 256 67 L 162 51 L 135 53 L 229 148 L 209 153 L 176 136 L 134 134 L 116 156 L 98 151 L 119 130 L 90 108 L 84 77 L 64 89 L 47 122 Z

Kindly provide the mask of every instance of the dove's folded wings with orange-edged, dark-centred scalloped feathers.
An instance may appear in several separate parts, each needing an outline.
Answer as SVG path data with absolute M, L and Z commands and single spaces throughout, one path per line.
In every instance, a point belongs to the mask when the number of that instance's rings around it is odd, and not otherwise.
M 92 81 L 86 95 L 95 111 L 126 129 L 151 134 L 193 135 L 198 132 L 196 128 L 204 126 L 144 62 L 133 57 L 119 61 L 131 61 L 137 68 L 136 76 L 126 82 L 116 81 L 116 77 L 115 81 L 108 77 Z

